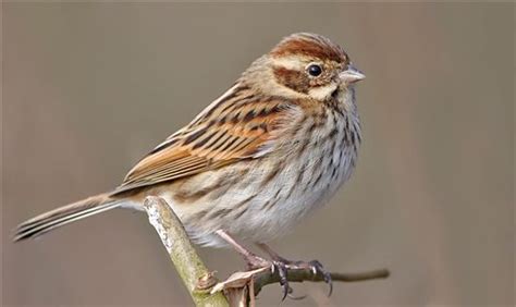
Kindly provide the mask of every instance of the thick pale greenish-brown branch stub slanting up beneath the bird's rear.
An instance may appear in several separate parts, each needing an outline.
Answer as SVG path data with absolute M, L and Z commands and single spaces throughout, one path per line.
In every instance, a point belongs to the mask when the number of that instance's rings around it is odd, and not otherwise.
M 183 224 L 164 199 L 149 196 L 144 201 L 144 208 L 195 305 L 228 306 L 222 293 L 210 294 L 202 291 L 217 281 L 200 260 Z

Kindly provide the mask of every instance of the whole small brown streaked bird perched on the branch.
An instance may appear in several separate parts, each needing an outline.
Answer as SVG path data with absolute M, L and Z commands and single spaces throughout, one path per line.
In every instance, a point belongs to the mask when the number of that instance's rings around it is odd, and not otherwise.
M 251 266 L 271 263 L 238 245 L 236 235 L 285 265 L 265 243 L 349 177 L 360 143 L 354 84 L 364 77 L 328 38 L 291 35 L 150 151 L 116 188 L 20 224 L 14 241 L 113 208 L 143 210 L 152 195 L 171 205 L 197 244 L 229 243 Z

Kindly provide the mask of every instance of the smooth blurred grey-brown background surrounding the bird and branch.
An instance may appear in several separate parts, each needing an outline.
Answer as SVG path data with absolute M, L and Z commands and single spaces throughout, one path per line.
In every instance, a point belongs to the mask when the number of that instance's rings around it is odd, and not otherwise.
M 191 305 L 147 217 L 12 244 L 21 221 L 118 185 L 283 36 L 341 44 L 367 79 L 358 168 L 272 242 L 332 271 L 291 305 L 514 305 L 514 4 L 3 3 L 2 302 Z M 200 249 L 219 278 L 232 250 Z M 260 294 L 280 304 L 280 287 Z

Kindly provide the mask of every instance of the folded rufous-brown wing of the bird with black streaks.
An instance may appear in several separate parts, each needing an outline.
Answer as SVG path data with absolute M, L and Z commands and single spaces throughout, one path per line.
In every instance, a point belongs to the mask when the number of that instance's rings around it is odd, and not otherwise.
M 140 160 L 114 194 L 267 155 L 291 108 L 234 86 Z

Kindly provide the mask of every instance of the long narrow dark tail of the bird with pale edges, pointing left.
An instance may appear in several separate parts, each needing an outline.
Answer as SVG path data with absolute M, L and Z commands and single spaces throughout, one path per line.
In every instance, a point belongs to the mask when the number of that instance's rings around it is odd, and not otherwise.
M 116 208 L 122 202 L 120 199 L 99 194 L 86 199 L 53 209 L 27 220 L 15 229 L 13 241 L 36 237 L 46 232 L 82 220 L 84 218 Z

